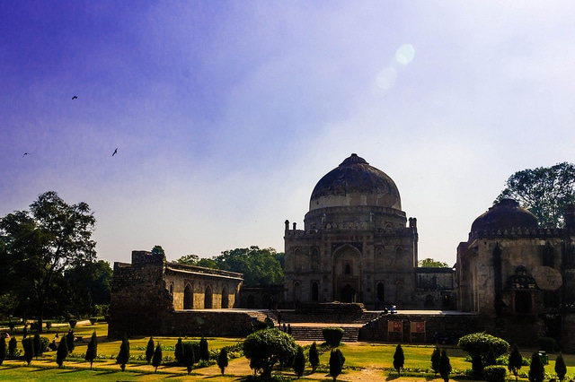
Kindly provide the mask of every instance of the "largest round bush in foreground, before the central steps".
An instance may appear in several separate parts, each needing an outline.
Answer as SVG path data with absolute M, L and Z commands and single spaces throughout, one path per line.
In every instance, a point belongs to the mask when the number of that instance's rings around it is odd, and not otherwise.
M 274 327 L 248 335 L 243 341 L 243 355 L 250 360 L 250 368 L 261 372 L 262 378 L 271 378 L 273 365 L 292 359 L 296 346 L 294 337 Z

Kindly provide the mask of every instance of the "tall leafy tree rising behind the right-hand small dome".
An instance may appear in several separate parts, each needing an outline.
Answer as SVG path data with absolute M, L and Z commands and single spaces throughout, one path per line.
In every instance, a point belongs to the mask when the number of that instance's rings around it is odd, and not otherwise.
M 535 214 L 540 226 L 559 227 L 567 204 L 575 204 L 575 165 L 562 162 L 517 171 L 507 179 L 497 201 L 504 198 L 515 199 Z

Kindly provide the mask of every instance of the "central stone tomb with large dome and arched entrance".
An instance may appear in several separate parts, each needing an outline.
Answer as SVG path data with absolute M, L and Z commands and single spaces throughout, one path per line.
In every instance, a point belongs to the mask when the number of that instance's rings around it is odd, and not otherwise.
M 304 229 L 285 223 L 286 301 L 419 306 L 415 218 L 385 172 L 351 154 L 317 182 Z

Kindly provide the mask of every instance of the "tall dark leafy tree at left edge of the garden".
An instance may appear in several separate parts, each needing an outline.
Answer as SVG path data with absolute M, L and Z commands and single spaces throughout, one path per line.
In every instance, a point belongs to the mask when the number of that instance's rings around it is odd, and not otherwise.
M 69 267 L 94 261 L 94 225 L 88 204 L 66 204 L 54 191 L 40 195 L 30 211 L 9 213 L 0 220 L 13 291 L 20 292 L 26 308 L 35 308 L 40 332 L 57 277 Z

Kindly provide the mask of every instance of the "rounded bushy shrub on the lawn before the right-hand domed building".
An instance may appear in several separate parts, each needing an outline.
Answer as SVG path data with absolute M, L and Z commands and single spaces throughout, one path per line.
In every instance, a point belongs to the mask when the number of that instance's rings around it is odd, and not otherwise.
M 484 332 L 464 335 L 459 338 L 457 346 L 470 355 L 473 373 L 476 375 L 483 374 L 484 361 L 490 349 L 493 350 L 496 359 L 509 352 L 507 341 Z

